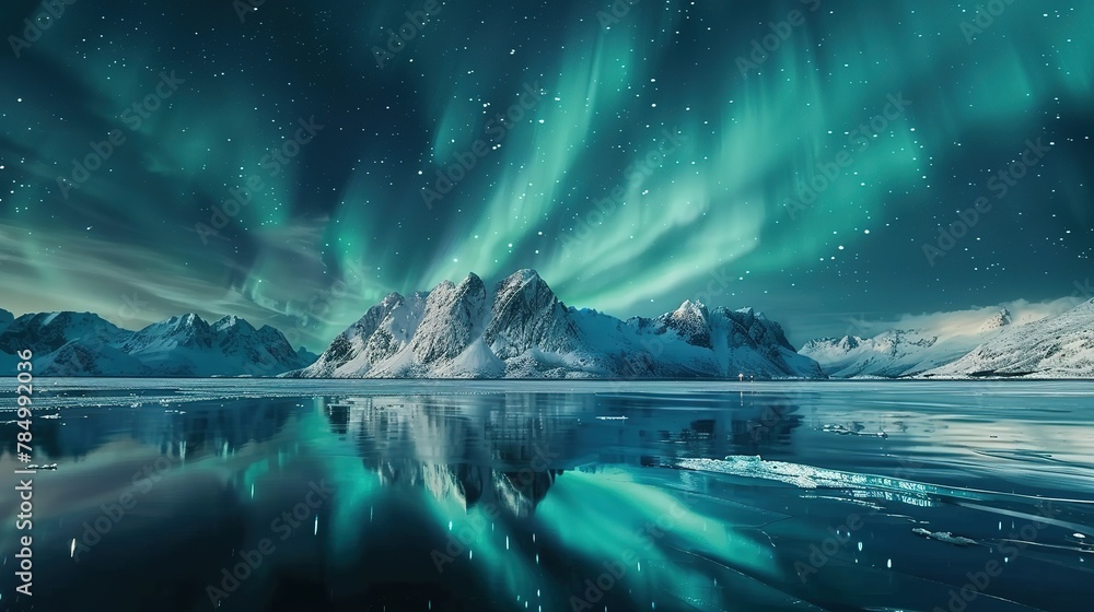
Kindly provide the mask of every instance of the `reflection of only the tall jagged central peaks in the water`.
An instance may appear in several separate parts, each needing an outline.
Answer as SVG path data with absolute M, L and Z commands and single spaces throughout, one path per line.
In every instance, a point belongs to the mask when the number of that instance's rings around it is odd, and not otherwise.
M 571 452 L 573 416 L 551 415 L 526 395 L 349 398 L 329 403 L 336 434 L 352 436 L 365 467 L 385 486 L 420 486 L 466 509 L 492 505 L 527 516 L 547 495 Z M 592 408 L 589 405 L 589 408 Z

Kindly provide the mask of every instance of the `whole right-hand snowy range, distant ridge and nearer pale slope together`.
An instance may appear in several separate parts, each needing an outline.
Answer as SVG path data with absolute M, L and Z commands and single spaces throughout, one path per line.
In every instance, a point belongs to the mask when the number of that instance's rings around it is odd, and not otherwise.
M 800 352 L 834 378 L 1094 378 L 1094 301 L 1025 325 L 1003 309 L 965 334 L 889 330 L 812 340 Z

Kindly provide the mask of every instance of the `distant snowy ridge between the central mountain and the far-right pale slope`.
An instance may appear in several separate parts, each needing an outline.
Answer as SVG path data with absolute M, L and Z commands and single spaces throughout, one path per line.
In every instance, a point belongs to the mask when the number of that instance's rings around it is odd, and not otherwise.
M 825 374 L 834 378 L 913 376 L 962 358 L 998 337 L 1011 322 L 1011 313 L 1004 308 L 975 333 L 954 336 L 936 330 L 894 329 L 873 338 L 811 340 L 799 352 L 816 360 Z

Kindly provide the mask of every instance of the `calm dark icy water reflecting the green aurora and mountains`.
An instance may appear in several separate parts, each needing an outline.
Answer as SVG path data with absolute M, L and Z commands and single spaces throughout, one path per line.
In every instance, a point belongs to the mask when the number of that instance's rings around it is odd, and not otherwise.
M 35 392 L 0 610 L 1094 609 L 1094 384 Z

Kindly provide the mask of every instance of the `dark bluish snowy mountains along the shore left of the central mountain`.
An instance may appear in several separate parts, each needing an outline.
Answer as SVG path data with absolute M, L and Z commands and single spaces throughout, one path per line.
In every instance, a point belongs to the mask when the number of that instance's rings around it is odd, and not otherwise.
M 311 363 L 269 326 L 197 315 L 135 332 L 91 313 L 28 314 L 0 331 L 0 361 L 25 349 L 39 376 L 270 376 Z

